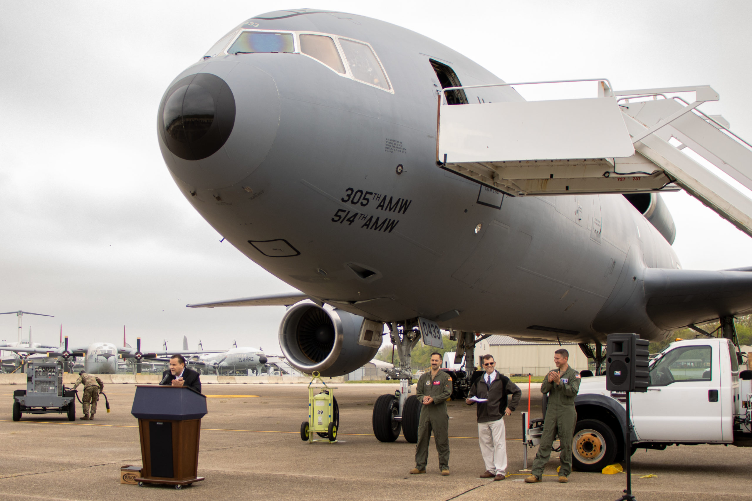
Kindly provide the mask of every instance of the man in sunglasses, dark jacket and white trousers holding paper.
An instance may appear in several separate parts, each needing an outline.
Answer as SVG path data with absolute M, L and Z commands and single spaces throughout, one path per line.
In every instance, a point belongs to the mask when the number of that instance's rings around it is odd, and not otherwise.
M 475 396 L 485 399 L 478 402 L 475 409 L 478 415 L 478 442 L 486 463 L 486 471 L 481 478 L 504 480 L 507 474 L 507 437 L 504 428 L 504 416 L 510 415 L 520 403 L 522 390 L 506 376 L 496 370 L 496 361 L 491 355 L 483 356 L 484 375 L 475 380 L 470 387 L 465 403 L 473 405 Z M 509 399 L 511 394 L 512 398 Z

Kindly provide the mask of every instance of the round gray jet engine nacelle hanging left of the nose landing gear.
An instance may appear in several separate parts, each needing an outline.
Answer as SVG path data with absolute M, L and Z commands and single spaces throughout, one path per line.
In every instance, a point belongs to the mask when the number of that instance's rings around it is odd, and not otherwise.
M 328 310 L 300 302 L 287 310 L 280 323 L 280 348 L 300 372 L 338 376 L 362 367 L 378 352 L 358 344 L 363 317 L 340 309 Z

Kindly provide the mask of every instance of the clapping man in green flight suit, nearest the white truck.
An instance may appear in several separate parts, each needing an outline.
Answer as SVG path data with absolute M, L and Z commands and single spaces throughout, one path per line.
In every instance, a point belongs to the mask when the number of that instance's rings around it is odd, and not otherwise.
M 541 393 L 548 393 L 548 404 L 543 422 L 543 436 L 538 454 L 532 463 L 532 475 L 525 478 L 528 484 L 541 481 L 543 468 L 551 457 L 553 439 L 559 435 L 561 453 L 559 460 L 559 481 L 568 482 L 572 473 L 572 433 L 575 431 L 577 411 L 575 397 L 580 390 L 580 373 L 567 363 L 569 351 L 560 348 L 553 352 L 553 363 L 558 370 L 549 372 L 541 384 Z

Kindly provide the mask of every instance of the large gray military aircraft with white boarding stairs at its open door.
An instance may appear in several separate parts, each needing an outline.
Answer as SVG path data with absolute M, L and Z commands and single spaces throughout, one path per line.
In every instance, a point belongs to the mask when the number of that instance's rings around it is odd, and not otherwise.
M 322 375 L 371 360 L 387 326 L 402 390 L 374 405 L 381 440 L 403 424 L 414 438 L 417 326 L 451 329 L 470 366 L 476 332 L 594 343 L 598 359 L 609 332 L 653 341 L 720 318 L 733 336 L 733 317 L 752 312 L 752 274 L 681 269 L 658 193 L 684 188 L 750 231 L 721 188 L 691 188 L 684 153 L 661 137 L 684 127 L 677 116 L 708 125 L 691 111 L 717 95 L 693 87 L 696 103 L 675 111 L 672 99 L 617 99 L 663 90 L 598 85 L 574 108 L 543 103 L 541 119 L 468 57 L 390 23 L 310 9 L 241 23 L 170 84 L 159 145 L 196 211 L 297 292 L 189 306 L 292 305 L 280 348 Z M 590 105 L 610 125 L 545 111 Z M 483 122 L 495 109 L 506 111 Z M 480 118 L 444 121 L 458 113 Z M 538 124 L 522 146 L 504 143 L 528 126 L 514 113 Z M 573 144 L 587 156 L 559 153 Z M 532 153 L 504 156 L 520 148 Z

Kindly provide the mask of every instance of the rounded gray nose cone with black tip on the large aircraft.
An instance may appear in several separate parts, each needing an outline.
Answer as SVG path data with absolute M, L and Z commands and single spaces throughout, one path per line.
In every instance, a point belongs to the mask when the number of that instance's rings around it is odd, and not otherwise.
M 162 97 L 159 146 L 172 174 L 193 190 L 247 178 L 265 159 L 280 121 L 274 79 L 252 65 L 214 61 L 189 68 Z

